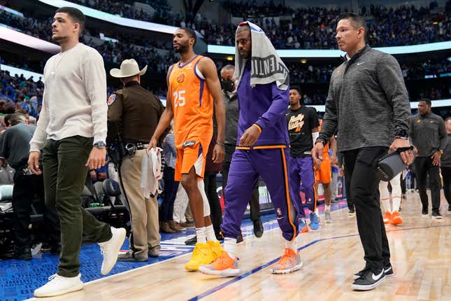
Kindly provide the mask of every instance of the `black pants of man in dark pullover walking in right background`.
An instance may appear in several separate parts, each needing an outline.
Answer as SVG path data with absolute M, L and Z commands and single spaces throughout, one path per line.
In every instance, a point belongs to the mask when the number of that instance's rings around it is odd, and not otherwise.
M 440 169 L 432 164 L 431 157 L 417 157 L 413 162 L 417 175 L 418 192 L 424 210 L 429 208 L 426 194 L 426 179 L 429 174 L 429 188 L 431 188 L 432 211 L 438 211 L 440 207 Z

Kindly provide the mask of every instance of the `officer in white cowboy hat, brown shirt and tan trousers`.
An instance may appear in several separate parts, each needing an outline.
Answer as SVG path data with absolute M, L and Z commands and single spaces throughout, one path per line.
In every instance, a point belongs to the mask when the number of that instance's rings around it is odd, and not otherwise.
M 145 199 L 141 191 L 141 162 L 147 142 L 157 127 L 164 111 L 158 97 L 141 87 L 141 71 L 134 59 L 125 59 L 120 69 L 111 69 L 110 75 L 120 78 L 124 88 L 108 98 L 108 137 L 117 134 L 128 150 L 120 165 L 120 178 L 125 198 L 129 203 L 131 219 L 130 251 L 120 254 L 122 261 L 145 261 L 159 252 L 157 198 Z

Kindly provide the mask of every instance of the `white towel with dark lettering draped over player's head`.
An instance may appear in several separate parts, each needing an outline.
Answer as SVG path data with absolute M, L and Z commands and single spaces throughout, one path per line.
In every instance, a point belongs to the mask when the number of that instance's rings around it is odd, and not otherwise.
M 240 23 L 236 28 L 236 33 L 244 24 L 249 25 L 250 36 L 252 38 L 250 85 L 255 87 L 255 85 L 275 82 L 280 90 L 287 90 L 289 85 L 289 71 L 275 51 L 273 44 L 269 41 L 263 29 L 249 21 Z M 234 72 L 236 87 L 238 87 L 241 76 L 243 76 L 246 61 L 247 59 L 241 57 L 238 46 L 236 45 Z

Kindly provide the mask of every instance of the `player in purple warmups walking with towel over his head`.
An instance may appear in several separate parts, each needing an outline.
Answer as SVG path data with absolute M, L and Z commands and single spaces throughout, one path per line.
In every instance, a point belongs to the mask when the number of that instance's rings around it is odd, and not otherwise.
M 257 47 L 258 45 L 258 47 Z M 237 276 L 236 237 L 252 190 L 262 176 L 271 195 L 277 221 L 285 239 L 285 253 L 271 272 L 286 274 L 300 269 L 296 247 L 298 221 L 289 198 L 289 139 L 285 111 L 289 104 L 288 69 L 264 31 L 251 22 L 236 30 L 235 73 L 238 87 L 238 141 L 225 188 L 226 207 L 222 233 L 224 251 L 199 272 Z

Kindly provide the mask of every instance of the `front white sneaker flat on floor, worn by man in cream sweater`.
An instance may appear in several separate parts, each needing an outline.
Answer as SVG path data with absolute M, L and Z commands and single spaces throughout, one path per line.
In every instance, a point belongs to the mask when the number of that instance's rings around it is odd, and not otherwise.
M 83 289 L 80 274 L 75 277 L 63 277 L 58 274 L 48 277 L 48 283 L 34 290 L 34 297 L 52 297 L 76 292 Z

